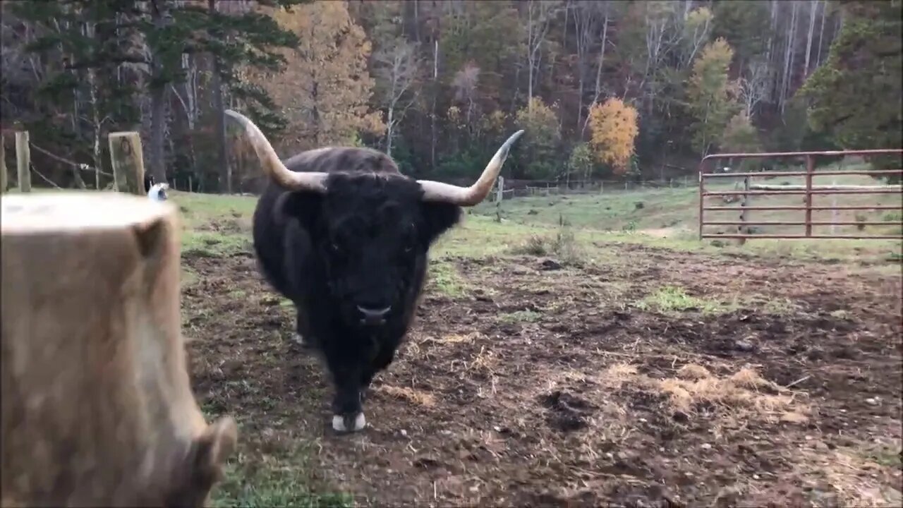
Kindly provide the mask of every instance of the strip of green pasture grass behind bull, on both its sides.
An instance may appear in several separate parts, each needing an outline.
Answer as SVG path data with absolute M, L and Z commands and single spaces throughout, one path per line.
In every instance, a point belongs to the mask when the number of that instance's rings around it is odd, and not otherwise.
M 837 176 L 836 179 L 838 183 L 876 183 L 867 176 Z M 793 178 L 776 180 L 777 182 L 769 183 L 801 182 Z M 828 183 L 831 183 L 831 180 L 828 180 Z M 732 188 L 732 183 L 724 183 L 721 186 L 725 185 Z M 35 189 L 34 192 L 47 191 Z M 796 199 L 798 198 L 799 196 L 796 196 Z M 824 196 L 816 197 L 818 198 Z M 852 195 L 842 198 L 850 198 L 852 202 L 893 203 L 895 200 L 898 202 L 898 196 L 895 194 Z M 793 197 L 763 197 L 759 198 L 757 203 L 781 204 L 793 199 Z M 219 257 L 249 249 L 250 218 L 256 203 L 255 197 L 172 192 L 171 200 L 180 210 L 184 254 Z M 700 241 L 697 237 L 697 200 L 698 194 L 694 188 L 515 198 L 503 202 L 504 213 L 501 223 L 494 220 L 495 204 L 483 202 L 470 209 L 464 216 L 461 226 L 442 237 L 433 247 L 432 253 L 436 259 L 505 255 L 523 248 L 531 237 L 554 239 L 561 230 L 559 221 L 563 219 L 572 225 L 573 243 L 583 249 L 581 257 L 590 262 L 609 259 L 612 256 L 611 246 L 618 243 L 750 258 L 856 261 L 861 264 L 878 265 L 899 263 L 903 260 L 901 242 L 898 240 L 763 239 L 749 240 L 744 245 L 732 240 Z M 549 205 L 550 202 L 553 203 L 552 206 Z M 643 208 L 637 209 L 636 202 L 644 202 Z M 838 198 L 838 204 L 850 203 Z M 538 212 L 529 213 L 534 209 Z M 775 215 L 763 215 L 761 220 L 799 219 L 795 215 L 799 212 L 773 213 Z M 887 213 L 882 213 L 875 220 L 882 220 L 883 215 Z M 756 218 L 759 219 L 759 216 Z M 736 220 L 736 213 L 731 212 L 725 217 L 712 219 Z M 831 220 L 830 217 L 817 216 L 815 219 Z M 839 219 L 848 218 L 839 217 Z M 212 227 L 224 224 L 227 227 L 219 230 Z M 648 230 L 663 228 L 669 231 L 666 238 L 658 234 L 647 234 Z M 855 226 L 848 228 L 855 229 Z M 870 228 L 867 227 L 866 232 L 876 232 Z M 816 228 L 815 232 L 820 231 Z M 849 231 L 839 232 L 845 234 Z

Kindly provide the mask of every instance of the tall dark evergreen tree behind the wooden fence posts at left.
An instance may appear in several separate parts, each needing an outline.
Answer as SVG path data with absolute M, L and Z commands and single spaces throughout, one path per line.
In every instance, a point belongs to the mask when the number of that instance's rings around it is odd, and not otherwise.
M 302 2 L 274 3 L 290 7 Z M 45 120 L 42 131 L 83 146 L 91 146 L 88 141 L 93 132 L 93 144 L 103 145 L 98 144 L 99 126 L 85 128 L 81 124 L 91 122 L 82 118 L 96 118 L 95 124 L 106 119 L 109 127 L 134 128 L 141 122 L 137 98 L 147 90 L 151 141 L 145 154 L 149 173 L 158 181 L 166 179 L 163 136 L 168 90 L 185 79 L 184 54 L 211 55 L 223 87 L 234 99 L 245 102 L 248 115 L 260 122 L 262 129 L 273 132 L 284 126 L 266 93 L 242 82 L 236 73 L 242 66 L 278 70 L 284 59 L 273 48 L 297 45 L 293 33 L 282 30 L 265 14 L 223 14 L 196 1 L 172 0 L 20 2 L 13 12 L 44 28 L 27 47 L 29 52 L 44 61 L 64 62 L 59 68 L 51 66 L 42 80 L 42 99 L 61 109 L 79 110 L 89 104 L 90 111 L 76 115 L 71 126 L 47 125 Z M 150 59 L 145 56 L 148 54 Z

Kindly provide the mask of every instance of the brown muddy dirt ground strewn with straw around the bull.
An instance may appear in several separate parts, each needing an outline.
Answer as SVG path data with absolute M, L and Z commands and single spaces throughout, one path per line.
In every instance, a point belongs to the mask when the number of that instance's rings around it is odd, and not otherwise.
M 461 294 L 431 284 L 353 436 L 330 430 L 323 370 L 250 253 L 186 256 L 196 392 L 241 421 L 244 454 L 311 443 L 305 481 L 361 503 L 901 503 L 899 277 L 616 249 L 587 268 L 445 260 Z M 664 285 L 733 305 L 631 305 Z

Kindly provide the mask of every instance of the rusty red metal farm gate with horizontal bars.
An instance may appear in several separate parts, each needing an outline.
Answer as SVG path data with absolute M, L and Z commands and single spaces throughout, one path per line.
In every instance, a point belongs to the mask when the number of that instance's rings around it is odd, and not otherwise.
M 903 157 L 903 149 L 888 150 L 844 150 L 844 151 L 825 151 L 825 152 L 778 152 L 763 154 L 712 154 L 703 157 L 699 165 L 699 238 L 735 238 L 747 239 L 754 238 L 771 238 L 771 239 L 887 239 L 887 240 L 903 240 L 903 221 L 900 220 L 900 214 L 891 215 L 891 219 L 896 221 L 837 221 L 836 216 L 841 211 L 852 210 L 888 210 L 900 212 L 903 210 L 903 187 L 900 185 L 815 185 L 813 180 L 815 177 L 840 176 L 848 174 L 867 174 L 872 176 L 897 174 L 903 175 L 903 165 L 900 169 L 892 170 L 847 170 L 843 169 L 841 162 L 840 171 L 816 171 L 815 158 L 819 155 L 823 156 L 848 156 L 848 155 L 899 155 Z M 710 161 L 716 160 L 749 160 L 749 159 L 804 159 L 805 171 L 761 171 L 747 173 L 733 173 L 731 171 L 721 171 L 718 169 L 707 172 L 707 168 L 713 166 Z M 843 161 L 843 159 L 841 159 Z M 901 161 L 903 162 L 903 161 Z M 728 168 L 725 168 L 728 169 Z M 784 176 L 803 176 L 805 184 L 755 184 L 751 183 L 754 177 L 759 178 L 775 178 Z M 709 190 L 706 183 L 712 180 L 724 181 L 724 179 L 742 178 L 742 188 L 740 183 L 736 183 L 733 190 Z M 723 186 L 721 187 L 723 189 Z M 815 195 L 831 195 L 831 194 L 897 194 L 893 200 L 893 204 L 862 204 L 853 205 L 836 204 L 836 198 L 832 200 L 830 205 L 814 205 L 813 196 Z M 787 196 L 802 195 L 802 204 L 782 204 L 773 206 L 750 206 L 749 201 L 752 196 Z M 721 198 L 721 203 L 712 205 L 705 201 L 708 197 Z M 740 201 L 740 206 L 727 206 L 726 204 Z M 797 221 L 749 221 L 749 212 L 755 211 L 799 211 L 802 212 Z M 831 221 L 813 221 L 813 212 L 830 211 L 832 212 Z M 706 212 L 740 212 L 740 217 L 736 221 L 711 220 L 706 217 Z M 857 217 L 857 219 L 861 219 Z M 897 234 L 835 234 L 835 226 L 857 226 L 858 230 L 864 230 L 865 226 L 897 226 Z M 708 232 L 705 226 L 736 226 L 733 231 Z M 754 233 L 750 232 L 753 227 L 758 226 L 805 226 L 802 233 Z M 813 234 L 814 226 L 832 226 L 830 234 Z

